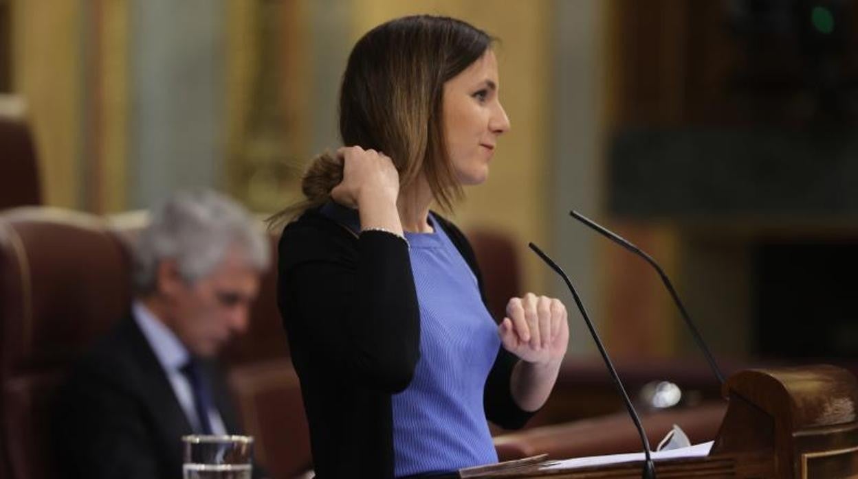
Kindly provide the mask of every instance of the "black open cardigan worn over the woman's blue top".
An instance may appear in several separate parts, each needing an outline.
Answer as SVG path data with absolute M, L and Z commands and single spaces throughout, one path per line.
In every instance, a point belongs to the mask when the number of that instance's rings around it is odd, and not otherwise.
M 433 217 L 482 292 L 467 239 Z M 301 380 L 317 477 L 392 477 L 390 396 L 408 387 L 420 361 L 420 307 L 408 246 L 382 231 L 358 235 L 310 210 L 287 225 L 279 249 L 278 301 Z M 504 428 L 520 428 L 532 416 L 512 398 L 516 362 L 499 348 L 486 380 L 486 417 Z

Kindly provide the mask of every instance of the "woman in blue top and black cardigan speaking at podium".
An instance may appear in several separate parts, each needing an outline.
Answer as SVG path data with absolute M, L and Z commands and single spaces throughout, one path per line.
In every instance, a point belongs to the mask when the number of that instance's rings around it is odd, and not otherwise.
M 314 159 L 280 242 L 278 300 L 317 477 L 438 476 L 497 462 L 568 343 L 564 305 L 513 297 L 496 322 L 450 212 L 486 181 L 510 121 L 492 39 L 409 16 L 366 33 L 342 78 L 346 147 Z

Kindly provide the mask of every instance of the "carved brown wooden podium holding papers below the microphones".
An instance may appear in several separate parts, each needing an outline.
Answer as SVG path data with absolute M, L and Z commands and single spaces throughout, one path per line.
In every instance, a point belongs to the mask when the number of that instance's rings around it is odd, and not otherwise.
M 845 369 L 749 369 L 730 377 L 722 393 L 728 409 L 709 456 L 657 461 L 657 477 L 858 479 L 858 382 Z M 641 468 L 537 465 L 480 477 L 632 479 Z

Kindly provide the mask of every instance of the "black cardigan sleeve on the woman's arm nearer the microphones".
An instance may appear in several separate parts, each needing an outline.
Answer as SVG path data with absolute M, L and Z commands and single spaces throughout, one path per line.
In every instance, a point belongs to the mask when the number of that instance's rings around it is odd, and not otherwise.
M 438 214 L 434 215 L 441 222 L 450 241 L 456 245 L 459 253 L 471 267 L 474 276 L 477 278 L 477 284 L 480 286 L 480 296 L 483 303 L 486 303 L 486 291 L 484 290 L 482 275 L 480 274 L 480 266 L 477 264 L 476 254 L 471 248 L 468 238 L 449 221 L 440 218 Z M 486 305 L 486 308 L 488 306 Z M 498 318 L 495 318 L 498 321 Z M 489 421 L 494 422 L 501 428 L 518 429 L 523 428 L 538 410 L 526 411 L 518 407 L 516 400 L 512 398 L 512 370 L 516 367 L 519 359 L 510 351 L 505 350 L 503 346 L 498 348 L 498 356 L 495 357 L 492 370 L 489 371 L 486 379 L 486 386 L 483 389 L 483 408 L 486 410 L 486 417 Z

